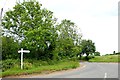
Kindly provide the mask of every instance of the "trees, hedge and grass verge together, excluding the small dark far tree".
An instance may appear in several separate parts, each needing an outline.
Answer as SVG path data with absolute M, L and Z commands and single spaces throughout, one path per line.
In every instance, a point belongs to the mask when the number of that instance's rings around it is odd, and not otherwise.
M 79 66 L 81 33 L 71 20 L 57 21 L 35 0 L 17 2 L 2 18 L 2 77 L 72 69 Z M 92 41 L 92 40 L 91 40 Z M 20 69 L 18 50 L 24 54 Z

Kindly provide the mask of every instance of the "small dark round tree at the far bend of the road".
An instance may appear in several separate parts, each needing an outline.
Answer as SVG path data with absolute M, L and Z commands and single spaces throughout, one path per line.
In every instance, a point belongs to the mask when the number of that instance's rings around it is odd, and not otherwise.
M 81 47 L 82 47 L 81 54 L 86 54 L 86 60 L 88 60 L 88 56 L 94 53 L 96 50 L 95 44 L 92 42 L 92 40 L 82 40 Z

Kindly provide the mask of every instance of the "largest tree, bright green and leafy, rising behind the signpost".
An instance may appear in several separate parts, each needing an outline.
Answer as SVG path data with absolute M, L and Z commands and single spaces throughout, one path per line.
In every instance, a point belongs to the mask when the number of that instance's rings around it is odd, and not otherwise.
M 17 3 L 13 10 L 6 12 L 2 24 L 14 39 L 22 41 L 21 47 L 31 50 L 27 57 L 46 60 L 52 57 L 55 47 L 56 18 L 53 12 L 41 6 L 34 0 Z

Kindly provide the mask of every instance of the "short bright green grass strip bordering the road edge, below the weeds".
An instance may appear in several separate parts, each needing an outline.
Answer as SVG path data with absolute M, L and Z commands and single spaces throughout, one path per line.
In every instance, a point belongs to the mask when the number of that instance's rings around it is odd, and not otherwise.
M 29 69 L 21 70 L 20 67 L 13 67 L 4 72 L 2 72 L 2 77 L 14 76 L 14 75 L 27 75 L 33 73 L 42 73 L 44 71 L 60 71 L 79 67 L 79 62 L 77 61 L 62 61 L 53 65 L 42 65 L 42 66 L 32 66 Z

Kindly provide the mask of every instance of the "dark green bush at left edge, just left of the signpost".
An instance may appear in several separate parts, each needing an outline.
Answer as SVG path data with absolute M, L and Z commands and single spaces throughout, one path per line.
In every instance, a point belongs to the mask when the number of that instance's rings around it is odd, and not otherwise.
M 18 42 L 14 41 L 12 37 L 2 37 L 2 59 L 17 59 L 19 45 Z

